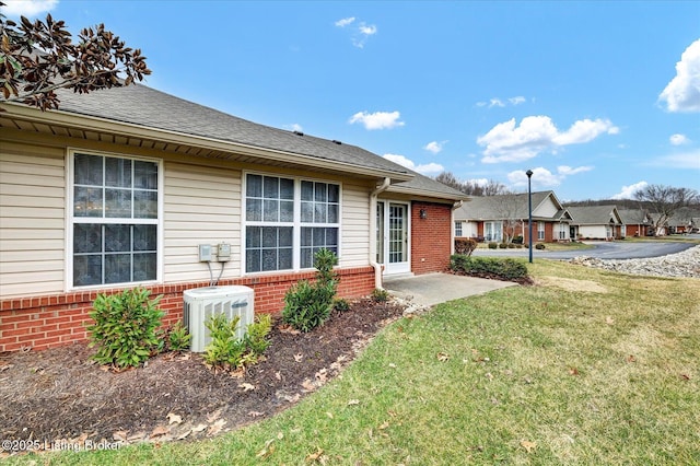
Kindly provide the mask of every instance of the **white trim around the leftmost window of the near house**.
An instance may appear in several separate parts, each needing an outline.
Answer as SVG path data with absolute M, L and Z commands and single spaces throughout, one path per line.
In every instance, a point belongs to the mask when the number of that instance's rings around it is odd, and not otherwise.
M 158 219 L 139 219 L 139 223 L 142 224 L 155 224 L 158 225 L 158 249 L 156 249 L 156 275 L 155 280 L 147 280 L 147 281 L 135 281 L 129 283 L 101 283 L 101 284 L 91 284 L 85 287 L 74 287 L 73 286 L 73 223 L 75 223 L 75 218 L 73 217 L 73 193 L 74 193 L 74 155 L 77 153 L 86 154 L 86 155 L 97 155 L 97 156 L 107 156 L 107 158 L 117 158 L 117 159 L 129 159 L 129 160 L 140 160 L 144 162 L 154 162 L 158 164 Z M 133 288 L 141 284 L 153 284 L 153 283 L 162 283 L 163 282 L 163 248 L 164 248 L 164 232 L 163 230 L 163 217 L 164 217 L 164 170 L 163 170 L 163 160 L 154 159 L 148 156 L 140 155 L 130 155 L 117 152 L 103 152 L 103 151 L 94 151 L 81 148 L 68 148 L 66 151 L 66 271 L 63 275 L 63 291 L 77 291 L 77 290 L 100 290 L 104 288 Z M 84 220 L 84 221 L 83 221 Z M 90 222 L 89 220 L 93 220 Z M 95 223 L 95 218 L 80 218 L 78 223 Z M 100 219 L 100 223 L 122 223 L 122 219 Z

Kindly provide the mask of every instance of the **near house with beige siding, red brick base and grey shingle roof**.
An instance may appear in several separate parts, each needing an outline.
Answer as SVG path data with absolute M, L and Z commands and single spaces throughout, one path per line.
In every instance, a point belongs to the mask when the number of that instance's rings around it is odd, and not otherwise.
M 96 295 L 136 286 L 163 295 L 166 324 L 214 282 L 277 313 L 322 247 L 346 298 L 450 261 L 466 196 L 361 148 L 144 85 L 59 96 L 1 104 L 0 351 L 82 340 Z

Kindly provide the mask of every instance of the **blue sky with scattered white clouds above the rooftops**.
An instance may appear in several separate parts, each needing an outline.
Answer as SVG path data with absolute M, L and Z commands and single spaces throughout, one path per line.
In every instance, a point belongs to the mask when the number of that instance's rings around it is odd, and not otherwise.
M 700 190 L 700 2 L 12 1 L 105 23 L 147 84 L 423 173 L 629 198 Z

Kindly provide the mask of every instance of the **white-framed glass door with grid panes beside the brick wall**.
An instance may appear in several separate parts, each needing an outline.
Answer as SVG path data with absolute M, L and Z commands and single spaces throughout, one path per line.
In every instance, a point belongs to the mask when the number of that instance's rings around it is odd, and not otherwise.
M 376 215 L 377 261 L 387 275 L 409 272 L 408 205 L 380 201 Z

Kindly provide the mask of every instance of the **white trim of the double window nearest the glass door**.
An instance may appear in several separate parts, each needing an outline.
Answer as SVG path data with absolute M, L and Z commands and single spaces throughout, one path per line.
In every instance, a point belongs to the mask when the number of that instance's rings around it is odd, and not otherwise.
M 247 203 L 247 178 L 248 175 L 271 176 L 276 178 L 287 178 L 294 180 L 294 220 L 292 222 L 266 222 L 247 221 L 246 203 Z M 325 183 L 338 186 L 338 223 L 303 223 L 301 221 L 302 205 L 302 182 Z M 257 272 L 247 272 L 246 264 L 246 230 L 247 226 L 292 226 L 292 268 L 282 270 L 266 270 Z M 279 273 L 293 273 L 299 271 L 314 270 L 313 267 L 301 267 L 301 234 L 302 228 L 337 228 L 338 229 L 338 264 L 340 264 L 342 255 L 342 183 L 324 178 L 315 178 L 308 176 L 289 175 L 285 173 L 243 171 L 241 182 L 241 277 L 266 276 Z

